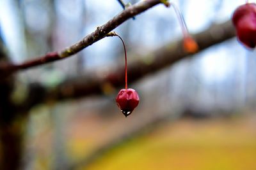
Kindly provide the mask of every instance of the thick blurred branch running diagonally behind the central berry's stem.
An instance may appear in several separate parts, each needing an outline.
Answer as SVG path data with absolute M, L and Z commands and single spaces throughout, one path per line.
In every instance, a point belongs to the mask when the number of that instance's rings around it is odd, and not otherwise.
M 233 25 L 228 21 L 224 24 L 212 25 L 209 29 L 195 34 L 193 38 L 196 39 L 200 50 L 204 50 L 209 46 L 221 43 L 234 36 Z M 163 67 L 170 66 L 177 62 L 177 60 L 188 56 L 191 55 L 183 50 L 182 40 L 163 46 L 145 56 L 138 56 L 136 60 L 133 60 L 128 65 L 129 83 L 149 73 L 154 73 Z M 88 96 L 90 94 L 104 94 L 106 93 L 106 87 L 120 87 L 125 84 L 124 65 L 116 64 L 116 66 L 118 67 L 111 67 L 108 71 L 99 70 L 76 78 L 69 78 L 58 85 L 58 87 L 49 91 L 42 85 L 34 83 L 33 88 L 31 88 L 34 91 L 31 90 L 31 93 L 40 95 L 36 95 L 36 99 L 31 99 L 30 97 L 31 104 L 42 103 L 47 99 L 61 100 Z M 40 92 L 36 92 L 38 89 Z

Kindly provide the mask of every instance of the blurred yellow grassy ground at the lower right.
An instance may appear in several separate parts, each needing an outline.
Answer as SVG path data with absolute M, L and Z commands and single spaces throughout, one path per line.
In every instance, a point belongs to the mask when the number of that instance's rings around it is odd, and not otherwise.
M 180 120 L 105 153 L 90 170 L 256 169 L 255 119 Z

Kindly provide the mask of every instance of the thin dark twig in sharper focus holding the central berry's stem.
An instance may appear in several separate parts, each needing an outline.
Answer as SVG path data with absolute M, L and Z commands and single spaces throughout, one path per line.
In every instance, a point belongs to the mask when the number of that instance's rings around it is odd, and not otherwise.
M 37 57 L 36 59 L 26 61 L 22 64 L 0 63 L 0 76 L 6 76 L 6 74 L 13 73 L 20 69 L 28 69 L 30 67 L 40 66 L 48 62 L 53 62 L 55 60 L 61 60 L 70 57 L 71 55 L 80 52 L 87 46 L 90 46 L 93 43 L 104 38 L 110 31 L 125 22 L 125 20 L 128 20 L 129 18 L 134 17 L 135 15 L 138 15 L 145 10 L 148 10 L 148 8 L 152 8 L 159 3 L 162 2 L 160 0 L 146 0 L 129 6 L 125 8 L 124 11 L 116 15 L 114 18 L 109 20 L 106 24 L 97 27 L 94 32 L 88 34 L 88 36 L 83 38 L 81 41 L 75 43 L 74 45 L 68 46 L 63 50 L 60 50 L 60 52 L 47 53 L 42 57 Z

